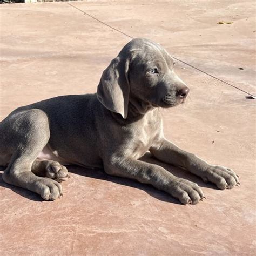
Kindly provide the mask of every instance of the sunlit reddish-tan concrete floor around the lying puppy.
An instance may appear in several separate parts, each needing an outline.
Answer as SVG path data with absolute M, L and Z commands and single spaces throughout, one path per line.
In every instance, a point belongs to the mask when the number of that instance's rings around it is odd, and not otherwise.
M 70 167 L 64 197 L 42 201 L 0 178 L 1 255 L 252 255 L 255 230 L 255 1 L 97 1 L 73 6 L 131 37 L 163 44 L 190 86 L 185 106 L 163 111 L 166 138 L 241 187 L 199 184 L 207 200 L 180 205 L 168 194 L 104 172 Z M 130 38 L 68 3 L 1 5 L 0 120 L 21 105 L 95 92 L 102 71 Z M 219 25 L 219 21 L 232 24 Z M 243 68 L 244 70 L 240 70 Z M 0 175 L 2 172 L 0 172 Z

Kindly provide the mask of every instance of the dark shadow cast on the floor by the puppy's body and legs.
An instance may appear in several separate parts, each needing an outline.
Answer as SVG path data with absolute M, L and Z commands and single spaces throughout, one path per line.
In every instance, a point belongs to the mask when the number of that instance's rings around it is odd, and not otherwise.
M 172 173 L 174 176 L 196 182 L 200 187 L 216 188 L 213 184 L 205 184 L 199 177 L 196 177 L 193 174 L 191 174 L 191 173 L 189 173 L 189 172 L 187 172 L 183 169 L 180 169 L 178 167 L 174 167 L 174 166 L 169 165 L 169 164 L 165 164 L 165 163 L 157 160 L 156 158 L 152 157 L 152 155 L 150 153 L 146 153 L 142 158 L 140 158 L 140 160 L 145 161 L 147 163 L 157 164 L 159 166 L 162 166 L 167 171 Z M 107 180 L 107 181 L 110 181 L 112 183 L 120 184 L 120 185 L 123 185 L 123 186 L 134 187 L 134 188 L 137 188 L 139 190 L 144 190 L 146 193 L 150 194 L 150 196 L 152 196 L 154 198 L 157 198 L 158 200 L 173 203 L 173 204 L 180 204 L 180 202 L 177 199 L 174 199 L 172 196 L 170 196 L 170 194 L 168 194 L 164 191 L 157 190 L 156 188 L 154 188 L 151 185 L 139 183 L 136 180 L 110 176 L 110 175 L 106 174 L 103 170 L 87 169 L 87 168 L 73 166 L 73 165 L 70 165 L 70 166 L 67 166 L 67 167 L 68 167 L 69 172 L 75 173 L 77 175 L 90 177 L 90 178 L 93 178 L 93 179 Z M 0 166 L 0 171 L 3 171 L 3 170 L 4 170 L 4 167 Z M 19 194 L 19 195 L 21 195 L 25 198 L 28 198 L 30 200 L 44 201 L 36 193 L 33 193 L 31 191 L 24 190 L 23 188 L 19 188 L 19 187 L 12 186 L 12 185 L 4 183 L 4 181 L 2 179 L 2 173 L 0 173 L 0 186 L 5 187 L 5 188 L 9 188 L 12 191 L 14 191 L 15 193 L 17 193 L 17 194 Z

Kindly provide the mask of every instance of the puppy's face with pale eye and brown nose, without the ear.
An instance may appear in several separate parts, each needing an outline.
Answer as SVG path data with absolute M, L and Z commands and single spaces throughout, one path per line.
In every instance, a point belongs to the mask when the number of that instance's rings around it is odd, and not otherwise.
M 174 73 L 174 59 L 159 44 L 146 41 L 130 63 L 130 97 L 153 107 L 172 107 L 185 101 L 188 87 Z

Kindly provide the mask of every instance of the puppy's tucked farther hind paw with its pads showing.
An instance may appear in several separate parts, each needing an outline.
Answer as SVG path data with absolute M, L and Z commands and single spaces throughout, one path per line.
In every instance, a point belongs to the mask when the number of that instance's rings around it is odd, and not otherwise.
M 46 177 L 58 182 L 66 181 L 70 178 L 68 169 L 56 161 L 49 161 L 46 164 Z

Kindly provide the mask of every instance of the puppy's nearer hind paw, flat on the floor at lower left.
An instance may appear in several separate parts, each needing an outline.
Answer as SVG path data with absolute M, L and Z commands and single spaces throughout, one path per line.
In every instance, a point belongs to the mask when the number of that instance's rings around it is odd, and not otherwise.
M 37 192 L 44 200 L 56 200 L 62 196 L 62 186 L 55 180 L 39 178 L 33 183 Z

